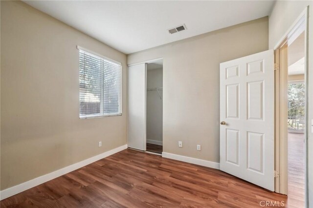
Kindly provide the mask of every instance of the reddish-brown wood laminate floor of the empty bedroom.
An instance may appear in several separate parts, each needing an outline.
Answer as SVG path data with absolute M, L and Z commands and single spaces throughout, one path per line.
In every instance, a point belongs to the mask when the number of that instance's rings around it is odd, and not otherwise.
M 126 149 L 0 202 L 1 208 L 260 207 L 285 201 L 220 170 Z

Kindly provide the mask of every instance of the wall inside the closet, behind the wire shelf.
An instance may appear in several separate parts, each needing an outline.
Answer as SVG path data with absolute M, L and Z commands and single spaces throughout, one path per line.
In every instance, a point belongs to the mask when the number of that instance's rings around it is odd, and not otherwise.
M 147 70 L 147 88 L 162 87 L 163 85 L 163 69 Z M 162 90 L 159 90 L 163 97 Z M 147 92 L 147 143 L 161 145 L 162 144 L 162 115 L 163 100 L 160 99 L 157 91 Z M 151 141 L 152 140 L 152 141 Z M 156 141 L 156 142 L 154 142 Z

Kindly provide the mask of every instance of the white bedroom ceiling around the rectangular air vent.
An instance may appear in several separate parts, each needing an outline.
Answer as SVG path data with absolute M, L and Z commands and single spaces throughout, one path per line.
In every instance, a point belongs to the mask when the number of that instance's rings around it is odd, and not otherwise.
M 27 4 L 126 53 L 268 16 L 274 1 L 26 0 Z M 187 30 L 169 34 L 185 23 Z

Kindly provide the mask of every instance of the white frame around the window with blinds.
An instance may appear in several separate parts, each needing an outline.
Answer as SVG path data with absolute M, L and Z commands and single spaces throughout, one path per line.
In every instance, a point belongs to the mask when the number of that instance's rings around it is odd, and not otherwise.
M 111 116 L 122 116 L 122 111 L 123 111 L 123 95 L 122 95 L 122 93 L 123 93 L 123 89 L 122 89 L 122 86 L 123 86 L 123 65 L 122 65 L 122 63 L 121 62 L 117 62 L 117 61 L 115 61 L 115 60 L 113 60 L 113 59 L 110 59 L 110 58 L 108 58 L 108 57 L 106 57 L 106 56 L 103 56 L 103 55 L 101 55 L 101 54 L 98 54 L 98 53 L 96 53 L 96 52 L 93 52 L 93 51 L 90 51 L 90 50 L 88 50 L 88 49 L 86 49 L 86 48 L 84 48 L 84 47 L 81 47 L 81 46 L 79 46 L 79 45 L 77 45 L 77 49 L 78 49 L 78 63 L 79 63 L 79 51 L 80 50 L 82 50 L 82 51 L 85 51 L 85 52 L 87 52 L 87 53 L 90 53 L 90 54 L 92 54 L 92 55 L 94 55 L 94 56 L 98 56 L 98 57 L 100 57 L 100 58 L 102 58 L 102 59 L 104 59 L 105 61 L 107 61 L 107 62 L 112 62 L 112 63 L 114 63 L 114 64 L 119 64 L 120 66 L 121 66 L 121 68 L 120 68 L 120 75 L 121 75 L 121 78 L 120 78 L 120 106 L 119 106 L 119 113 L 108 113 L 108 114 L 102 114 L 102 115 L 86 115 L 86 116 L 81 116 L 80 115 L 80 112 L 78 113 L 78 115 L 79 115 L 79 119 L 91 119 L 91 118 L 101 118 L 101 117 L 111 117 Z M 78 64 L 79 65 L 79 64 Z M 78 67 L 79 68 L 79 71 L 78 72 L 80 72 L 80 67 Z M 80 83 L 79 83 L 79 92 L 80 92 Z M 80 106 L 80 93 L 78 93 L 78 96 L 79 96 L 79 100 L 78 100 L 78 102 L 79 102 L 79 105 L 78 106 Z M 102 105 L 103 103 L 100 103 L 100 105 Z M 79 107 L 79 110 L 80 110 L 80 107 Z M 100 110 L 101 111 L 101 110 Z

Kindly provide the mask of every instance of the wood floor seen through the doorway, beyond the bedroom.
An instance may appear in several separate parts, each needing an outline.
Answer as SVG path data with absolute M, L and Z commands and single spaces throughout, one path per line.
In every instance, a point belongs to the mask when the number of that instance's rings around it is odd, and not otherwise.
M 288 203 L 304 207 L 304 134 L 288 134 Z

